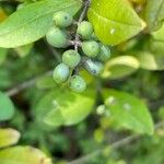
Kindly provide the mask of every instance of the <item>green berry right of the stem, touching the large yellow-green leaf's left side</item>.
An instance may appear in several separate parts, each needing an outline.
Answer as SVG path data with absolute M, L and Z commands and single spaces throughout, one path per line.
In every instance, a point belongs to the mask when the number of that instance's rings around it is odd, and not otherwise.
M 78 26 L 78 34 L 83 39 L 90 39 L 93 34 L 93 25 L 87 21 L 81 22 Z

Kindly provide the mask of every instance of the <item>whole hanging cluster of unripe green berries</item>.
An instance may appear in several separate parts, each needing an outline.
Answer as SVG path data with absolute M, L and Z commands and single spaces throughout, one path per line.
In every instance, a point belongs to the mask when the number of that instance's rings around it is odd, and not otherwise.
M 80 67 L 84 67 L 92 75 L 98 77 L 103 71 L 103 62 L 110 57 L 110 49 L 103 45 L 94 35 L 93 25 L 87 21 L 78 23 L 75 39 L 71 40 L 71 35 L 66 28 L 73 24 L 73 17 L 63 11 L 59 11 L 52 16 L 55 26 L 46 34 L 47 42 L 56 48 L 74 46 L 62 55 L 62 63 L 54 70 L 54 80 L 57 84 L 68 82 L 72 91 L 82 93 L 86 89 L 86 83 L 78 73 Z M 78 36 L 78 40 L 77 40 Z M 80 47 L 78 48 L 75 47 Z

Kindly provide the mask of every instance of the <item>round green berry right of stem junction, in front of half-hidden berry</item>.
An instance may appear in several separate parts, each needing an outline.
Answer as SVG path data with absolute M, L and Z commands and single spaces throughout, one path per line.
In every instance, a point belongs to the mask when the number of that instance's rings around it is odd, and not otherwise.
M 99 45 L 94 40 L 83 42 L 82 50 L 87 57 L 95 58 L 99 52 Z

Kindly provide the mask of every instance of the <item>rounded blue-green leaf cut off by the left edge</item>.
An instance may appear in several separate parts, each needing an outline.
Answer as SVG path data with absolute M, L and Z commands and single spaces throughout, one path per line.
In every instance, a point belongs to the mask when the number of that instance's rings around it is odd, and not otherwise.
M 0 92 L 0 121 L 11 119 L 14 115 L 14 106 L 11 99 Z

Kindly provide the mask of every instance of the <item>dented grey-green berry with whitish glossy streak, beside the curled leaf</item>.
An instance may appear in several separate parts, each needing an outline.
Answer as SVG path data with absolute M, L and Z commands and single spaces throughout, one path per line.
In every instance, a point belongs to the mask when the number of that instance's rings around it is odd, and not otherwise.
M 92 75 L 95 75 L 95 77 L 98 77 L 104 69 L 104 66 L 102 62 L 91 60 L 91 59 L 85 60 L 84 67 Z

